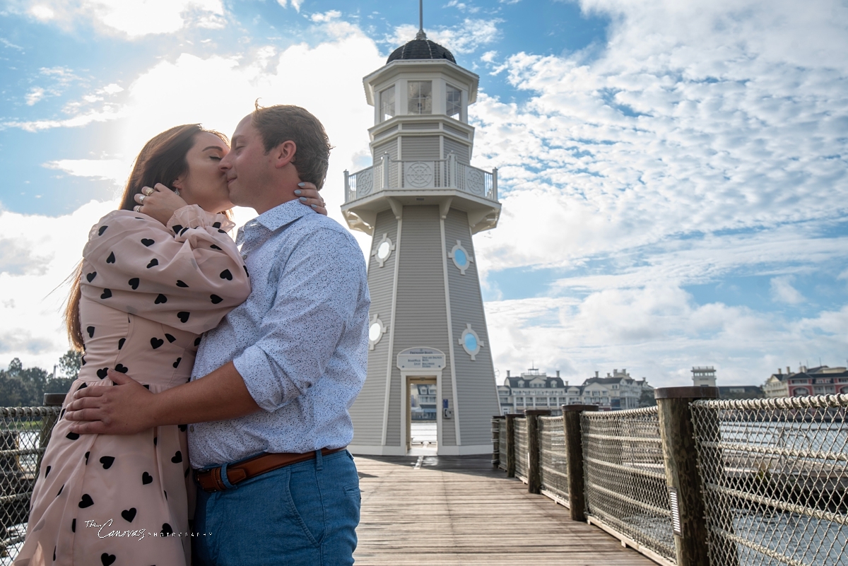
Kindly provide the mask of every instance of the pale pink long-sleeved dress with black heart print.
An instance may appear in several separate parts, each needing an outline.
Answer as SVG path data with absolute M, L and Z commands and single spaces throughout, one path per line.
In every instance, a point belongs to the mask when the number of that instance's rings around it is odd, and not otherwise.
M 189 380 L 200 335 L 250 293 L 231 228 L 223 214 L 194 205 L 167 227 L 127 210 L 100 219 L 83 251 L 86 353 L 64 405 L 82 387 L 111 386 L 109 368 L 154 393 Z M 79 436 L 59 419 L 15 566 L 190 564 L 186 429 Z

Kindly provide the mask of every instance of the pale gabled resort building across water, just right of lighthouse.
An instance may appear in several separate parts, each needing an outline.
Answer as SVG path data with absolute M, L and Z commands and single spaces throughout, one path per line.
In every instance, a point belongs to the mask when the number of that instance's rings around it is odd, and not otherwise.
M 527 409 L 549 409 L 561 414 L 562 405 L 598 405 L 603 411 L 638 408 L 653 404 L 654 388 L 642 378 L 634 380 L 627 369 L 612 370 L 612 375 L 583 381 L 582 386 L 569 386 L 557 371 L 555 376 L 531 368 L 512 376 L 506 372 L 505 383 L 498 386 L 501 414 L 524 413 Z

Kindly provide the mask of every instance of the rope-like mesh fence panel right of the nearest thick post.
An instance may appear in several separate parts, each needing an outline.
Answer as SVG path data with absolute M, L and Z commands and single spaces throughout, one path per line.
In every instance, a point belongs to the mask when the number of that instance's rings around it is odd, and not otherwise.
M 692 404 L 712 563 L 848 565 L 848 395 Z

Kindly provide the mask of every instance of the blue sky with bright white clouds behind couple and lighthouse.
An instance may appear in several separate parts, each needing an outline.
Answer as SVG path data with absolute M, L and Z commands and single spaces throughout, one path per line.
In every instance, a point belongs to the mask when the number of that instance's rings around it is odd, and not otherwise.
M 53 289 L 170 125 L 230 132 L 256 97 L 312 109 L 341 220 L 342 171 L 369 164 L 361 77 L 416 28 L 405 0 L 0 4 L 0 365 L 64 352 Z M 504 212 L 475 245 L 501 378 L 845 365 L 845 3 L 426 0 L 425 29 L 480 75 L 472 161 L 499 168 Z

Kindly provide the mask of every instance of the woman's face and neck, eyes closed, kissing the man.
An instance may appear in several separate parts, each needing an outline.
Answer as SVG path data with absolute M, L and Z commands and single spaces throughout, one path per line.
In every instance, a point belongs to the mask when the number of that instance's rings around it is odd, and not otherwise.
M 226 174 L 218 166 L 229 151 L 215 134 L 202 131 L 194 137 L 194 145 L 186 153 L 188 170 L 173 183 L 186 203 L 197 204 L 212 213 L 232 208 Z

